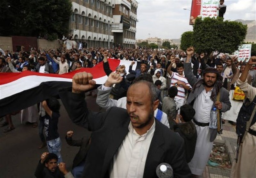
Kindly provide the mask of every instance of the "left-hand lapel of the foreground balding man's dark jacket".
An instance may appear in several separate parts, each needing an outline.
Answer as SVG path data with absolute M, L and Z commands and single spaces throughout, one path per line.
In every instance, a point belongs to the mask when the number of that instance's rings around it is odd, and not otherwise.
M 127 119 L 127 121 L 124 123 L 123 126 L 113 129 L 110 137 L 111 140 L 108 144 L 108 148 L 105 154 L 105 159 L 103 162 L 101 177 L 105 176 L 106 172 L 109 169 L 110 162 L 112 161 L 114 155 L 116 154 L 116 151 L 118 150 L 119 146 L 123 143 L 123 140 L 129 131 L 128 130 L 129 123 L 130 123 L 130 119 Z

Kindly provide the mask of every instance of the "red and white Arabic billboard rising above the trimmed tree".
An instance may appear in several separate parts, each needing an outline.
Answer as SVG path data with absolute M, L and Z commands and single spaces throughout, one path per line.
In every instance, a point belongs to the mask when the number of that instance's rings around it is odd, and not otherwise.
M 217 17 L 219 0 L 192 0 L 189 25 L 194 25 L 198 16 Z

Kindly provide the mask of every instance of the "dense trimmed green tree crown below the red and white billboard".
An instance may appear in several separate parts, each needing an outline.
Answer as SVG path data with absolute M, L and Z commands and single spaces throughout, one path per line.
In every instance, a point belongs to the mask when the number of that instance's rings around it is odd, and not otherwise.
M 192 36 L 191 45 L 197 52 L 210 54 L 212 51 L 233 53 L 243 43 L 247 25 L 236 21 L 223 21 L 223 18 L 197 18 L 193 32 L 181 36 L 181 49 L 185 50 Z M 188 38 L 188 39 L 186 39 Z

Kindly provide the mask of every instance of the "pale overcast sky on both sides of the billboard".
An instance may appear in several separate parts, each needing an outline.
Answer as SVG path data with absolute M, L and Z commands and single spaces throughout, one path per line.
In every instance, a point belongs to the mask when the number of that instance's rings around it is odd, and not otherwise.
M 185 31 L 192 31 L 189 16 L 192 0 L 137 0 L 138 10 L 136 39 L 159 37 L 180 38 Z M 225 0 L 226 20 L 256 20 L 256 0 Z M 183 9 L 189 10 L 183 10 Z M 150 34 L 150 35 L 149 35 Z

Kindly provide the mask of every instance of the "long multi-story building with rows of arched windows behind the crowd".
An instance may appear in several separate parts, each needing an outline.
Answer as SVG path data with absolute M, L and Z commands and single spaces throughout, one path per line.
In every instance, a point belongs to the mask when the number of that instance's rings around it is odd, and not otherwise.
M 88 47 L 135 46 L 138 2 L 71 0 L 70 33 Z

